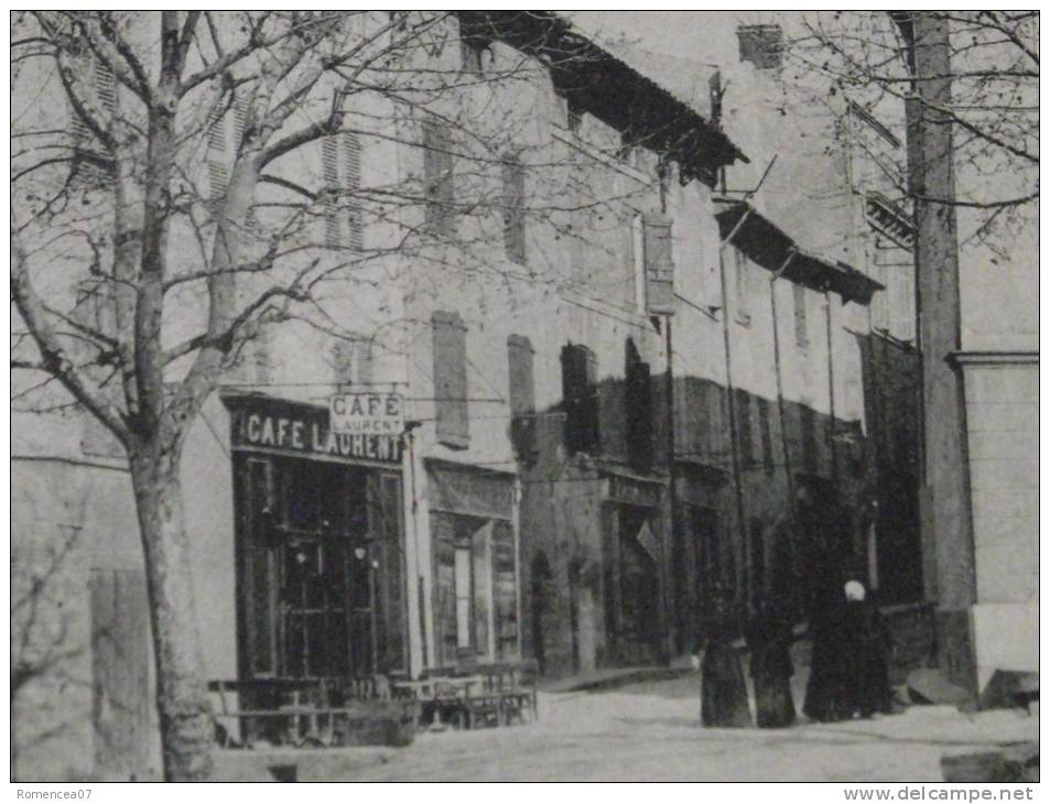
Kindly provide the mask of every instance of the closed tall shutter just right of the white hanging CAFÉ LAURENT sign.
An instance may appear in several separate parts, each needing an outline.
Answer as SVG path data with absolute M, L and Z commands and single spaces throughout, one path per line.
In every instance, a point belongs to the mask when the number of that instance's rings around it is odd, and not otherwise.
M 470 446 L 466 327 L 457 313 L 444 311 L 435 311 L 431 323 L 437 441 L 452 449 L 466 449 Z

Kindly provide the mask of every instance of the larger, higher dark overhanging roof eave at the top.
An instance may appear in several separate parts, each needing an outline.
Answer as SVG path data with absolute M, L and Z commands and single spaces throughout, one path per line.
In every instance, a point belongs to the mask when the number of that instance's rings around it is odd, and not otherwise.
M 749 160 L 722 129 L 656 82 L 573 31 L 551 11 L 457 11 L 465 36 L 498 40 L 543 62 L 555 89 L 643 148 L 679 163 L 683 180 L 714 185 Z

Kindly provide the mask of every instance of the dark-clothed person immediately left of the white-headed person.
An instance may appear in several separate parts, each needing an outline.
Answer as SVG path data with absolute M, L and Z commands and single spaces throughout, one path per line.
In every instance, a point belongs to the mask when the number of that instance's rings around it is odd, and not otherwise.
M 832 588 L 837 594 L 821 595 L 810 620 L 813 656 L 802 711 L 810 720 L 820 722 L 844 720 L 853 713 L 854 634 L 843 589 Z

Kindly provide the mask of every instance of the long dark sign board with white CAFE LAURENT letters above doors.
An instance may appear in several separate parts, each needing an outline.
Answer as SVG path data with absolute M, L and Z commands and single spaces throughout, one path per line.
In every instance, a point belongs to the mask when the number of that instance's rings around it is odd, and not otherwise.
M 401 435 L 336 433 L 328 411 L 264 396 L 226 396 L 234 448 L 401 463 Z

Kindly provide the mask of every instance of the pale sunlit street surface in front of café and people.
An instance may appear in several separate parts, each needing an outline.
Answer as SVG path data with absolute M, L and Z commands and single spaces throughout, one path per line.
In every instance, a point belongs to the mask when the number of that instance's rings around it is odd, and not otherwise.
M 938 782 L 945 753 L 1038 734 L 1037 717 L 946 706 L 787 730 L 704 729 L 697 687 L 689 675 L 613 692 L 541 694 L 537 724 L 423 732 L 404 749 L 300 751 L 269 764 L 297 763 L 301 781 Z

